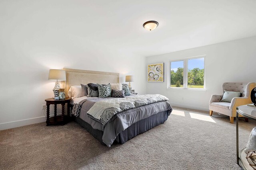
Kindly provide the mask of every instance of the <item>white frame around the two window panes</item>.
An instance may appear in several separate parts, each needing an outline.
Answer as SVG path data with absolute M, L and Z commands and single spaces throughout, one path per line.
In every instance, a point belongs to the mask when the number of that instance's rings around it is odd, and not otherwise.
M 204 58 L 204 88 L 188 88 L 188 60 Z M 183 88 L 182 87 L 171 87 L 171 62 L 183 61 Z M 174 59 L 168 61 L 168 89 L 189 89 L 189 90 L 206 90 L 206 55 L 198 55 L 193 57 L 186 57 L 180 59 Z

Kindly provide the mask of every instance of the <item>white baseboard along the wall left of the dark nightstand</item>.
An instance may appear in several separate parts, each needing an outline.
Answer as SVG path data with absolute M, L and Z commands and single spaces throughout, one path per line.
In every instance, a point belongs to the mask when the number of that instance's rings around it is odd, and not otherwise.
M 52 117 L 52 116 L 53 115 L 50 115 L 50 117 Z M 45 122 L 45 121 L 46 121 L 46 117 L 42 116 L 42 117 L 35 117 L 35 118 L 31 118 L 31 119 L 11 121 L 11 122 L 7 122 L 7 123 L 0 123 L 0 131 L 5 130 L 5 129 L 15 128 L 15 127 L 32 125 L 35 123 L 41 123 L 41 122 Z

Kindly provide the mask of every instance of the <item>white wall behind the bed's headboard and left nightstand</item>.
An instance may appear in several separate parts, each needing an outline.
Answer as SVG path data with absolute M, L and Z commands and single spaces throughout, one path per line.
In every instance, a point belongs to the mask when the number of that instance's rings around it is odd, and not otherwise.
M 45 121 L 42 104 L 55 84 L 49 69 L 118 72 L 121 83 L 134 75 L 133 89 L 146 93 L 144 57 L 72 35 L 58 21 L 31 18 L 18 6 L 0 11 L 0 130 Z

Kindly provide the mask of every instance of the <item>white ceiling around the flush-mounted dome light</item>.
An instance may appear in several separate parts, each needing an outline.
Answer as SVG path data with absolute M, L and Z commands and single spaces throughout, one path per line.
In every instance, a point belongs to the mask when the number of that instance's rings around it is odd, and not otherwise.
M 5 8 L 9 11 L 10 20 L 20 17 L 23 25 L 33 23 L 26 29 L 41 31 L 42 36 L 48 32 L 61 33 L 61 36 L 77 37 L 84 44 L 95 43 L 141 56 L 256 35 L 256 0 L 44 0 L 1 3 L 10 3 L 8 9 Z M 18 11 L 18 16 L 12 14 L 12 10 Z M 142 24 L 148 20 L 158 21 L 159 26 L 154 31 L 145 30 Z

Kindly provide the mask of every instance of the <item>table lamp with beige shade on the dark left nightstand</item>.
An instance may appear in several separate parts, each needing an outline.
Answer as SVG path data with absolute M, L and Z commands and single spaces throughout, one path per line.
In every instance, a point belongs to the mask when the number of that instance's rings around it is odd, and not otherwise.
M 59 93 L 59 89 L 60 89 L 60 83 L 58 82 L 58 80 L 59 81 L 66 80 L 65 70 L 50 69 L 48 80 L 56 80 L 55 86 L 52 89 L 52 91 L 54 93 L 54 99 L 58 100 L 59 99 L 58 93 Z

